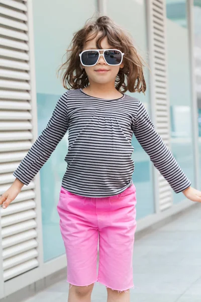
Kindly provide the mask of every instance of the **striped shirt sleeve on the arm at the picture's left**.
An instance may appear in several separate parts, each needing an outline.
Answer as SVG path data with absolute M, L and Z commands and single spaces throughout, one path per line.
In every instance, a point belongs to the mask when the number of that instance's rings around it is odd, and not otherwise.
M 28 185 L 47 162 L 68 130 L 67 92 L 58 100 L 52 116 L 13 175 Z

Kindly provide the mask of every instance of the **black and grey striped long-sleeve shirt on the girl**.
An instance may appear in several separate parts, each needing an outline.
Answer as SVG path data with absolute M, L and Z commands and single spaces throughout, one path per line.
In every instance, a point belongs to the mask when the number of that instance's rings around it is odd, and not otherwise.
M 132 185 L 133 133 L 174 192 L 191 185 L 138 99 L 127 94 L 115 100 L 100 99 L 82 89 L 68 90 L 60 97 L 14 176 L 28 185 L 67 130 L 67 169 L 61 185 L 74 194 L 107 197 Z

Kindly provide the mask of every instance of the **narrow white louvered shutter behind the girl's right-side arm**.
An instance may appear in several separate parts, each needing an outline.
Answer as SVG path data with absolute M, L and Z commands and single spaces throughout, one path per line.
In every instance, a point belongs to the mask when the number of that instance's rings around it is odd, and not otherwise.
M 163 0 L 150 1 L 151 59 L 153 67 L 153 101 L 155 127 L 165 144 L 170 148 L 169 103 L 167 96 L 167 47 L 166 47 L 166 3 Z M 159 210 L 172 205 L 171 187 L 158 172 Z

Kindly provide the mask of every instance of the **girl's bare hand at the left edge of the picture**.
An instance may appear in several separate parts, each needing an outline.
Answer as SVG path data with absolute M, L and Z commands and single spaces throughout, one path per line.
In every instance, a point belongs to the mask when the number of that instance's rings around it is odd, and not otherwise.
M 16 179 L 12 186 L 0 197 L 0 205 L 7 208 L 9 204 L 18 196 L 24 184 Z

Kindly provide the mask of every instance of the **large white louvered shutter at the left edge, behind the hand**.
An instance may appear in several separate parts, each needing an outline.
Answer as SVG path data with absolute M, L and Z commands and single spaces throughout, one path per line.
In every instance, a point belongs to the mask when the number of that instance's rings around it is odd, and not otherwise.
M 27 2 L 0 0 L 0 194 L 33 143 Z M 1 207 L 4 281 L 38 266 L 35 183 Z

